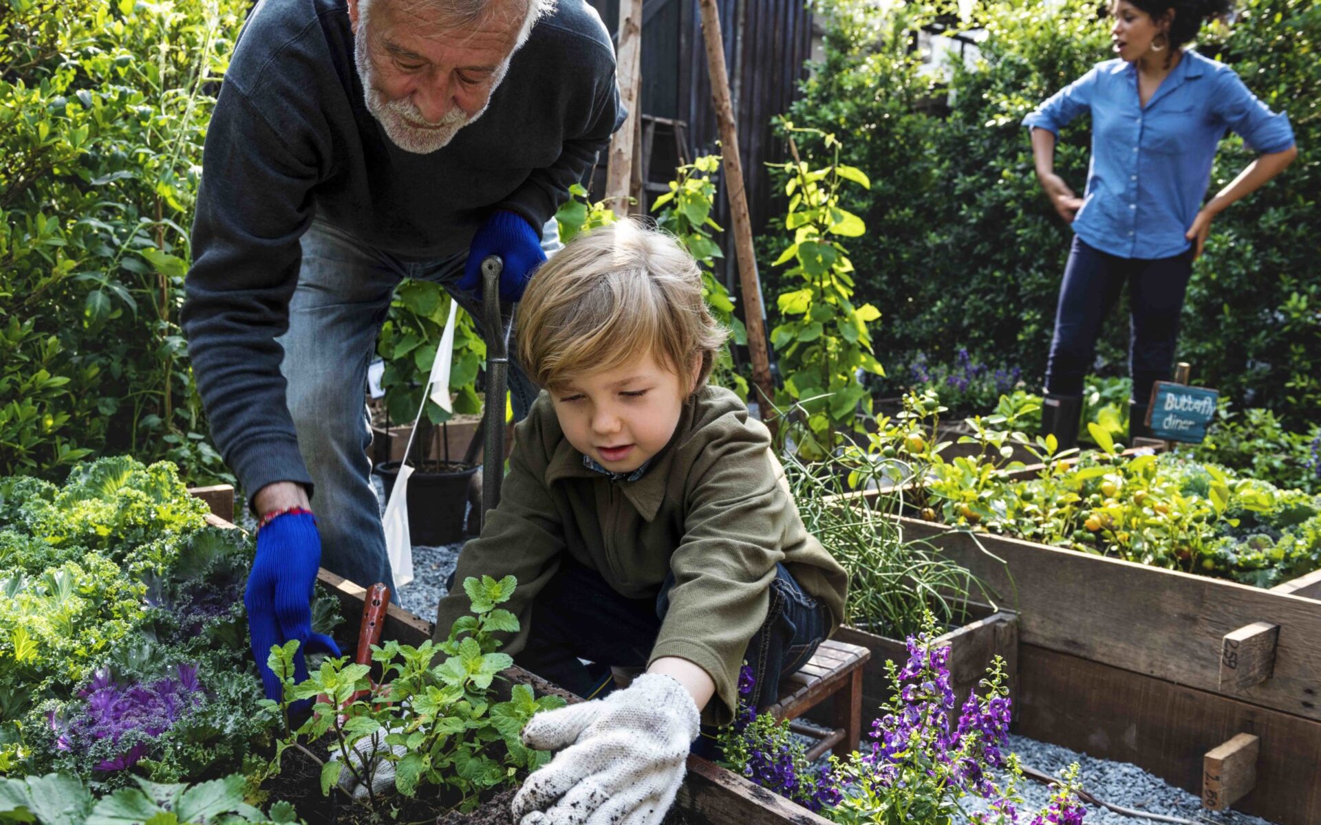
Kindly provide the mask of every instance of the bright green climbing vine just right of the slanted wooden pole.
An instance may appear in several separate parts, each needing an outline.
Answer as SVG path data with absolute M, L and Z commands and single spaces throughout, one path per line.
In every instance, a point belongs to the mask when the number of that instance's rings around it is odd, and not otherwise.
M 770 342 L 779 352 L 785 383 L 775 404 L 802 408 L 807 420 L 798 451 L 819 459 L 839 445 L 839 430 L 863 432 L 855 411 L 861 405 L 871 413 L 872 399 L 859 374 L 885 375 L 872 355 L 869 326 L 881 310 L 853 305 L 853 264 L 839 240 L 867 232 L 863 219 L 841 206 L 844 185 L 869 189 L 871 181 L 860 169 L 840 164 L 841 144 L 834 135 L 781 123 L 794 152 L 793 161 L 778 165 L 789 178 L 785 230 L 793 242 L 771 265 L 789 264 L 785 277 L 802 284 L 777 298 L 783 321 L 771 330 Z M 795 135 L 820 139 L 830 161 L 818 166 L 801 160 Z

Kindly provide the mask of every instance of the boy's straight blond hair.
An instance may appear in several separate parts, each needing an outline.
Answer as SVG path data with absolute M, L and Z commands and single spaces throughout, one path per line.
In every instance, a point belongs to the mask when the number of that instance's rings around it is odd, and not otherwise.
M 701 272 L 672 236 L 620 220 L 580 235 L 538 269 L 518 309 L 518 359 L 542 387 L 651 355 L 701 388 L 728 331 Z

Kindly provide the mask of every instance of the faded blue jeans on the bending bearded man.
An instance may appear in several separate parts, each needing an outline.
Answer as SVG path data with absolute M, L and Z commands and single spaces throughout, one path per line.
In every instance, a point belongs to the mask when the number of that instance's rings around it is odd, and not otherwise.
M 289 330 L 277 341 L 284 347 L 281 371 L 299 451 L 314 484 L 312 508 L 321 532 L 321 565 L 365 587 L 384 582 L 394 590 L 367 457 L 367 364 L 403 279 L 441 284 L 472 315 L 478 331 L 481 301 L 454 288 L 466 253 L 403 261 L 322 222 L 313 222 L 301 243 L 303 267 L 289 301 Z M 546 224 L 542 247 L 547 255 L 560 248 L 553 220 Z M 538 389 L 517 363 L 509 371 L 509 389 L 514 416 L 522 418 Z

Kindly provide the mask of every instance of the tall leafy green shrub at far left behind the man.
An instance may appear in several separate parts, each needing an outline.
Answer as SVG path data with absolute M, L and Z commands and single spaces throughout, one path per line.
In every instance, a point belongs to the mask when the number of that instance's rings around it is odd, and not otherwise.
M 0 474 L 125 450 L 226 477 L 178 309 L 215 79 L 248 5 L 0 11 Z

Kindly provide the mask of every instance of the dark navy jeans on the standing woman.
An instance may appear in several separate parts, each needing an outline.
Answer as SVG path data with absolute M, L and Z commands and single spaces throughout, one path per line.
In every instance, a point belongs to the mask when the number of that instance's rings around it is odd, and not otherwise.
M 1096 354 L 1100 326 L 1128 282 L 1132 400 L 1147 404 L 1152 384 L 1168 380 L 1178 339 L 1178 315 L 1193 273 L 1193 251 L 1156 260 L 1108 255 L 1074 235 L 1059 286 L 1055 334 L 1046 364 L 1046 391 L 1081 395 Z

